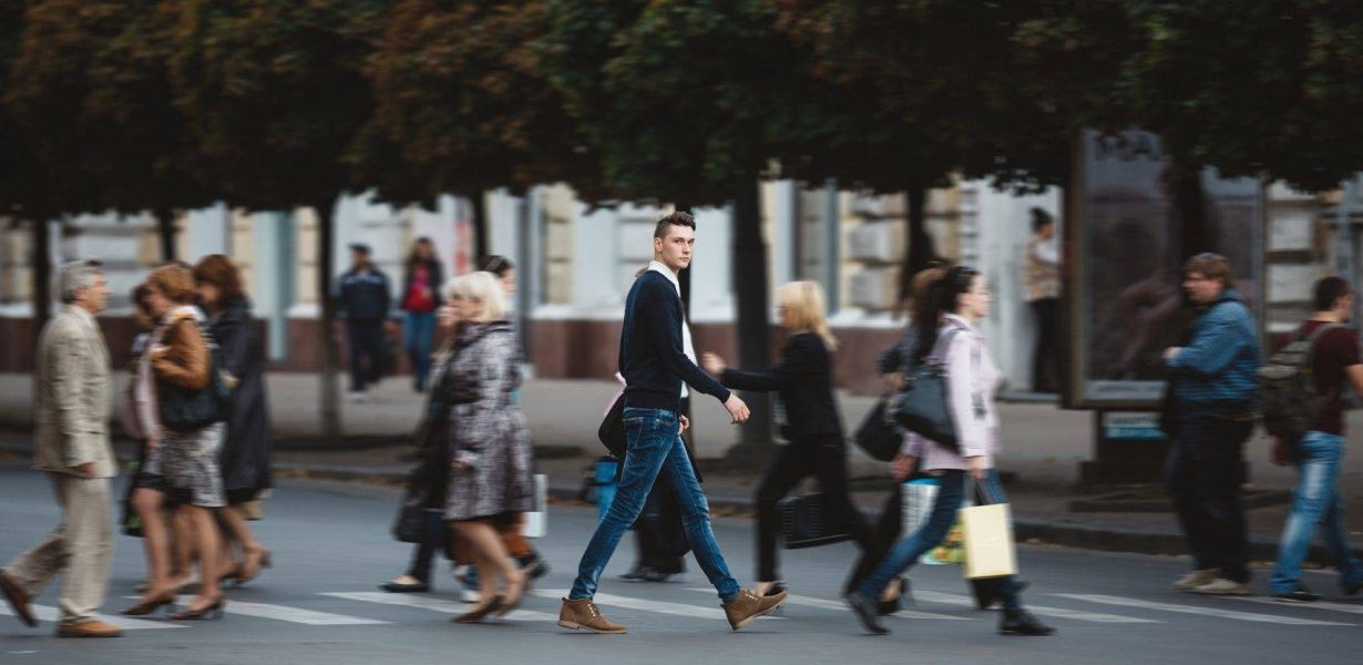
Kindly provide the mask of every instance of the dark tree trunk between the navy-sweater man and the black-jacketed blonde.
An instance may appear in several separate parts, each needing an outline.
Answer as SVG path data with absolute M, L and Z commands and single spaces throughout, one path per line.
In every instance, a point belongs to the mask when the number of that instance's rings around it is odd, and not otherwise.
M 733 198 L 733 290 L 737 296 L 739 362 L 762 369 L 771 362 L 771 330 L 767 313 L 767 260 L 762 243 L 759 184 L 744 183 Z M 766 392 L 743 392 L 752 410 L 743 425 L 739 446 L 729 452 L 735 463 L 763 463 L 770 458 L 771 409 Z

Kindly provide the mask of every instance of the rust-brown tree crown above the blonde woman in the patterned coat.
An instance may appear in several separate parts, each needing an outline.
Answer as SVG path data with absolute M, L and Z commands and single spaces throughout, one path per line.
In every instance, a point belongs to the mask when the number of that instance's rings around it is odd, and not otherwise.
M 378 136 L 369 158 L 357 161 L 397 176 L 367 180 L 398 202 L 472 199 L 480 255 L 488 253 L 488 189 L 566 181 L 587 198 L 605 196 L 597 161 L 533 48 L 547 19 L 541 0 L 405 0 L 371 59 Z M 384 140 L 390 146 L 378 143 Z

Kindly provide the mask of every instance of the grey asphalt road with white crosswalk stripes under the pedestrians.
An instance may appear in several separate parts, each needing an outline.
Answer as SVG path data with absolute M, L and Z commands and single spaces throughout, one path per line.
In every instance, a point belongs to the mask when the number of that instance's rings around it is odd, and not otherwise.
M 889 636 L 863 635 L 838 601 L 855 556 L 851 544 L 784 553 L 792 601 L 782 616 L 729 631 L 713 589 L 690 561 L 679 582 L 638 585 L 627 537 L 597 597 L 627 635 L 587 635 L 555 625 L 557 596 L 571 585 L 594 510 L 555 506 L 549 537 L 537 542 L 553 566 L 510 620 L 457 625 L 455 583 L 442 572 L 421 596 L 378 591 L 401 572 L 409 546 L 388 537 L 397 492 L 356 484 L 285 481 L 256 522 L 275 567 L 228 591 L 226 617 L 123 623 L 120 639 L 53 638 L 53 624 L 26 628 L 0 616 L 0 664 L 453 664 L 549 662 L 893 662 L 931 664 L 1281 664 L 1353 662 L 1363 647 L 1363 597 L 1340 598 L 1333 576 L 1307 582 L 1325 604 L 1265 598 L 1201 598 L 1168 590 L 1187 563 L 1175 557 L 1022 546 L 1026 601 L 1060 632 L 1052 638 L 995 634 L 998 615 L 966 602 L 957 567 L 915 568 L 917 605 L 890 617 Z M 35 544 L 59 511 L 41 474 L 0 463 L 0 561 Z M 752 572 L 751 522 L 718 519 L 716 531 L 740 582 Z M 443 567 L 442 567 L 443 570 Z M 132 602 L 143 576 L 140 541 L 117 537 L 106 612 Z M 1266 571 L 1259 571 L 1259 586 Z M 56 605 L 56 585 L 37 605 Z M 7 612 L 0 608 L 0 615 Z

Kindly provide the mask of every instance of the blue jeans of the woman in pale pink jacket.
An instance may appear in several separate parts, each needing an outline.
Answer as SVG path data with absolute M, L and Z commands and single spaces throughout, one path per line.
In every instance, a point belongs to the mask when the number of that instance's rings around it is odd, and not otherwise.
M 947 469 L 942 471 L 939 481 L 938 497 L 932 501 L 932 512 L 928 515 L 928 521 L 917 531 L 900 538 L 900 542 L 895 542 L 890 548 L 890 552 L 885 555 L 885 559 L 875 567 L 871 576 L 866 578 L 856 587 L 856 593 L 872 600 L 879 598 L 880 591 L 885 590 L 891 579 L 900 576 L 919 557 L 946 540 L 947 533 L 951 531 L 951 525 L 955 523 L 955 514 L 961 510 L 961 503 L 965 500 L 965 488 L 969 477 L 962 470 Z M 1003 495 L 1003 484 L 999 482 L 999 474 L 994 469 L 990 469 L 983 485 L 988 500 L 998 503 L 1007 501 L 1007 497 Z M 1005 609 L 1022 609 L 1022 598 L 1018 597 L 1017 581 L 1013 575 L 1002 579 L 999 591 L 1003 594 Z

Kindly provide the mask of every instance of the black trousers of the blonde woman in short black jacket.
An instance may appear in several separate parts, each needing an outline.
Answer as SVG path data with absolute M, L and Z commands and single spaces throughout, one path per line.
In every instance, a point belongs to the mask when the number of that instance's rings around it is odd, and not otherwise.
M 758 582 L 781 579 L 776 561 L 780 529 L 776 503 L 810 476 L 819 480 L 830 519 L 846 526 L 863 552 L 875 549 L 875 534 L 848 492 L 846 448 L 841 437 L 797 440 L 781 450 L 758 486 Z

